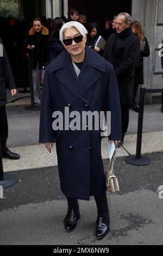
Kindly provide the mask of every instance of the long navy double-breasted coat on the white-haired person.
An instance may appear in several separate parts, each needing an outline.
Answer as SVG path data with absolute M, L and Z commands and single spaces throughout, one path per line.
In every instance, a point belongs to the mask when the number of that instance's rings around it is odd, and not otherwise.
M 121 111 L 114 68 L 86 46 L 79 77 L 65 50 L 47 67 L 43 82 L 39 142 L 56 143 L 61 191 L 90 200 L 106 191 L 101 131 L 54 131 L 52 114 L 65 107 L 78 111 L 111 111 L 112 140 L 121 139 Z M 64 116 L 65 118 L 65 116 Z

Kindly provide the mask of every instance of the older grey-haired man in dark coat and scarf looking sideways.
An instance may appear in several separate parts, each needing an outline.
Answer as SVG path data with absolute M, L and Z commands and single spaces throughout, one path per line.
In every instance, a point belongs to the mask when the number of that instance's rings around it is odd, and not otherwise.
M 140 40 L 131 29 L 131 16 L 121 13 L 116 18 L 116 34 L 110 35 L 104 58 L 112 65 L 117 76 L 121 101 L 122 141 L 128 129 L 129 108 L 133 103 L 134 69 L 140 56 Z

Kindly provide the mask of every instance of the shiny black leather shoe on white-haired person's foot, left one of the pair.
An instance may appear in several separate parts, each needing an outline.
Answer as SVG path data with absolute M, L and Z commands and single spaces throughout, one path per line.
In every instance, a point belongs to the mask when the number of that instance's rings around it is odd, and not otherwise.
M 66 215 L 64 223 L 67 232 L 72 231 L 76 227 L 79 218 L 73 211 Z

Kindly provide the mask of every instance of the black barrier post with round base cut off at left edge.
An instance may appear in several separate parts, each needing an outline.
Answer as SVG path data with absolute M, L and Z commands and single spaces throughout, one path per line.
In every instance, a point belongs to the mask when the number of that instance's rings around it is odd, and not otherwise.
M 0 186 L 2 186 L 3 188 L 11 187 L 16 183 L 16 181 L 17 179 L 14 175 L 3 173 L 1 138 L 0 138 Z

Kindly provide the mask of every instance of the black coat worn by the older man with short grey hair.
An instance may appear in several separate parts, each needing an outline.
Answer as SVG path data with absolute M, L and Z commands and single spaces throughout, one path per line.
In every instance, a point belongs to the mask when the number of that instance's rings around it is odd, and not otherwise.
M 140 57 L 140 40 L 135 34 L 123 39 L 124 51 L 113 56 L 116 34 L 110 35 L 107 41 L 104 58 L 108 60 L 116 71 L 121 104 L 133 103 L 134 69 Z

